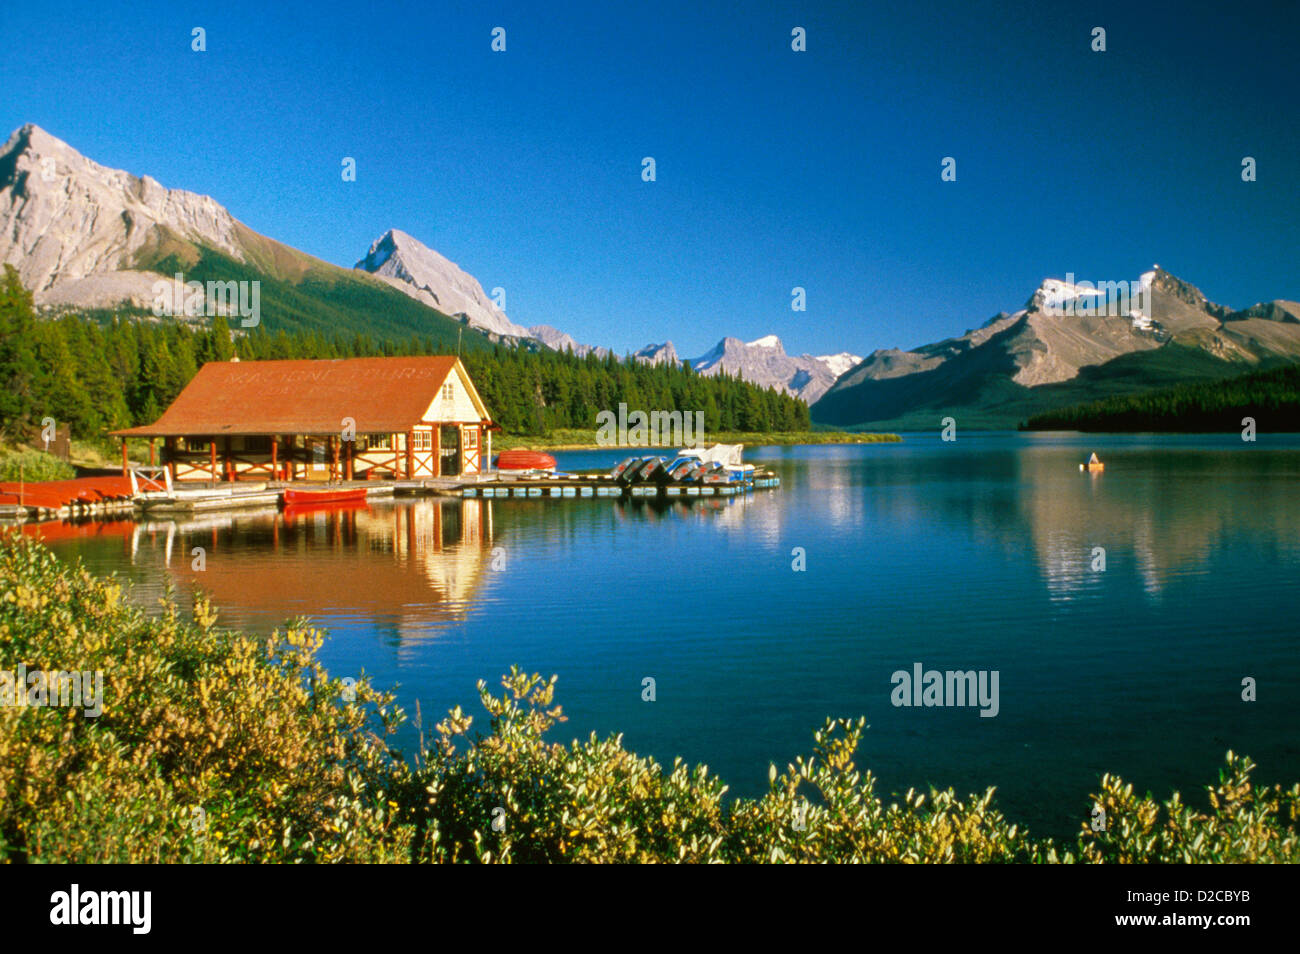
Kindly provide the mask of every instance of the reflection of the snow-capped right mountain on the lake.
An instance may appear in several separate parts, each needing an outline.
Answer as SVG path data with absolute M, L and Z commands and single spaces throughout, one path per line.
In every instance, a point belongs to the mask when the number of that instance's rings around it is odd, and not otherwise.
M 1152 597 L 1202 571 L 1228 541 L 1278 559 L 1300 552 L 1300 458 L 1294 452 L 1115 450 L 1105 473 L 1080 473 L 1063 447 L 989 448 L 983 455 L 878 458 L 853 480 L 872 520 L 942 521 L 1019 554 L 1028 550 L 1048 593 L 1069 599 L 1106 572 L 1135 573 Z

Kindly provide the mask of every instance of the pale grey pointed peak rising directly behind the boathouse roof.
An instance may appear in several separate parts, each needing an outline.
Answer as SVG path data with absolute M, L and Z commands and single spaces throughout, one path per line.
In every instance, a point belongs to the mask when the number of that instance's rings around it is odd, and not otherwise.
M 532 338 L 484 294 L 473 276 L 404 231 L 389 229 L 354 268 L 497 338 Z

